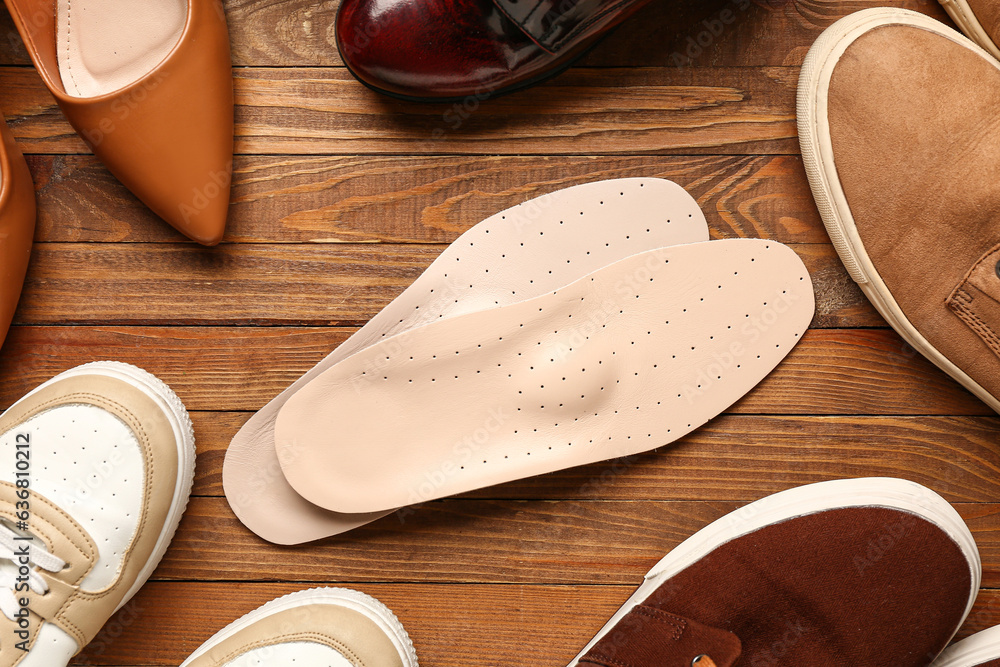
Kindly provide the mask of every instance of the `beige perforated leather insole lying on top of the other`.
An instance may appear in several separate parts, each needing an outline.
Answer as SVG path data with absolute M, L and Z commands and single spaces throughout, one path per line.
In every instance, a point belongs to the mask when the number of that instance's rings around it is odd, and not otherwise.
M 756 386 L 813 307 L 773 241 L 651 250 L 345 359 L 282 408 L 278 459 L 300 495 L 350 513 L 646 451 Z

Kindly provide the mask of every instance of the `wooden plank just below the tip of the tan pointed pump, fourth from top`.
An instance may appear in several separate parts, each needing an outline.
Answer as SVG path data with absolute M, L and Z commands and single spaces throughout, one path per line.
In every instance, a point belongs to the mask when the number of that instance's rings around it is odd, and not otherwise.
M 884 326 L 830 244 L 797 244 L 816 326 Z M 408 287 L 442 245 L 45 243 L 19 324 L 360 325 Z M 276 308 L 280 304 L 280 308 Z

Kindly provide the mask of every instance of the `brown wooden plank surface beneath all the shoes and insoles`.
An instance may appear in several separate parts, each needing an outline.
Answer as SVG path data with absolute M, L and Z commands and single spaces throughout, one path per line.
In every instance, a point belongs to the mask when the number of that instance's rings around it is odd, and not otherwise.
M 66 368 L 118 359 L 170 383 L 198 438 L 195 497 L 154 581 L 74 664 L 176 665 L 259 604 L 333 584 L 391 606 L 426 667 L 559 667 L 711 520 L 864 475 L 913 479 L 956 503 L 984 568 L 963 635 L 1000 623 L 1000 421 L 848 279 L 798 155 L 806 50 L 837 18 L 880 4 L 947 20 L 932 0 L 757 0 L 678 67 L 673 54 L 702 21 L 735 5 L 654 0 L 579 66 L 465 114 L 355 82 L 333 46 L 336 2 L 228 0 L 238 155 L 229 232 L 214 249 L 184 242 L 90 156 L 3 15 L 0 111 L 29 154 L 40 219 L 0 404 Z M 805 260 L 813 328 L 760 387 L 628 462 L 429 503 L 302 548 L 243 528 L 221 470 L 252 411 L 475 222 L 622 176 L 673 179 L 714 238 L 773 238 Z

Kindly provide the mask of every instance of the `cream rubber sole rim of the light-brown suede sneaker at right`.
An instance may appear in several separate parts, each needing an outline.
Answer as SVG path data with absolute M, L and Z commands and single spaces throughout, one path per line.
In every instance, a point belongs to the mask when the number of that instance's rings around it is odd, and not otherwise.
M 802 66 L 798 89 L 799 143 L 823 224 L 844 266 L 861 291 L 890 326 L 915 350 L 961 383 L 993 410 L 1000 400 L 937 350 L 910 323 L 896 303 L 865 251 L 857 225 L 840 185 L 833 142 L 827 122 L 830 80 L 847 48 L 870 30 L 884 25 L 907 25 L 937 33 L 983 56 L 989 54 L 971 40 L 923 14 L 905 9 L 867 9 L 833 24 L 812 46 Z

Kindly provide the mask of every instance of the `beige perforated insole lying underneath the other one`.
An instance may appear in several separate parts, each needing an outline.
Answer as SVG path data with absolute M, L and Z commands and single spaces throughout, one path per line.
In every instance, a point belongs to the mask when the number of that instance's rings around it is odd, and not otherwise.
M 708 239 L 697 202 L 656 178 L 588 183 L 525 202 L 475 225 L 398 298 L 243 426 L 223 486 L 236 515 L 264 539 L 293 544 L 350 530 L 385 512 L 347 515 L 295 493 L 278 463 L 274 420 L 323 371 L 390 336 L 544 294 L 649 248 Z

